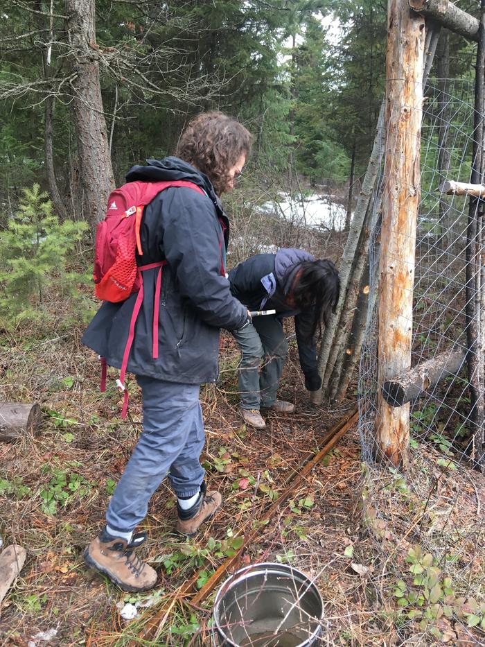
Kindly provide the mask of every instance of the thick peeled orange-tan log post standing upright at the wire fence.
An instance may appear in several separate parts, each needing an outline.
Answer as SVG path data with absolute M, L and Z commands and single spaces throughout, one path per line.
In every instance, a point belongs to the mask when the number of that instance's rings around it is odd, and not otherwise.
M 388 2 L 386 155 L 382 189 L 378 306 L 376 458 L 407 467 L 409 405 L 389 406 L 382 384 L 411 365 L 412 294 L 420 198 L 423 102 L 423 17 L 399 0 Z

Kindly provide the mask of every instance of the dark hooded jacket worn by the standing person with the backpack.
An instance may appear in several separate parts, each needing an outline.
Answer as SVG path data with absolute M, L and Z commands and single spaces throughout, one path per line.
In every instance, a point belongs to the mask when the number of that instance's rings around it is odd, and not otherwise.
M 152 357 L 155 268 L 142 273 L 143 304 L 127 370 L 187 384 L 213 382 L 218 377 L 219 329 L 238 329 L 247 319 L 246 308 L 231 295 L 221 274 L 229 221 L 209 178 L 182 159 L 149 159 L 148 166 L 134 166 L 126 179 L 188 180 L 206 193 L 166 189 L 145 207 L 143 256 L 137 262 L 167 261 L 161 281 L 159 356 Z M 132 294 L 121 303 L 103 302 L 82 337 L 82 343 L 116 368 L 121 368 L 135 300 Z

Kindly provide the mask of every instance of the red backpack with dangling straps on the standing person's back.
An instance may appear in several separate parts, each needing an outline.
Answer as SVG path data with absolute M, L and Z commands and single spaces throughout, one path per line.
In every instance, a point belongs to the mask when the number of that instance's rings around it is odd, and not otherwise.
M 194 189 L 202 195 L 205 191 L 197 184 L 186 180 L 173 182 L 127 182 L 123 187 L 114 189 L 109 193 L 105 219 L 99 223 L 96 230 L 96 244 L 94 251 L 94 292 L 103 301 L 120 302 L 127 299 L 132 293 L 138 293 L 130 320 L 130 329 L 123 352 L 120 377 L 116 384 L 124 392 L 124 403 L 121 417 L 125 417 L 128 408 L 128 392 L 125 388 L 125 374 L 134 339 L 134 326 L 143 303 L 143 281 L 141 273 L 144 270 L 159 268 L 157 287 L 155 290 L 155 303 L 153 304 L 153 357 L 158 357 L 158 321 L 159 298 L 161 288 L 161 271 L 166 261 L 158 261 L 148 265 L 136 265 L 136 253 L 143 256 L 140 241 L 141 217 L 143 208 L 157 196 L 160 191 L 170 187 L 186 187 Z M 106 390 L 107 365 L 104 357 L 100 358 L 102 372 L 102 391 Z

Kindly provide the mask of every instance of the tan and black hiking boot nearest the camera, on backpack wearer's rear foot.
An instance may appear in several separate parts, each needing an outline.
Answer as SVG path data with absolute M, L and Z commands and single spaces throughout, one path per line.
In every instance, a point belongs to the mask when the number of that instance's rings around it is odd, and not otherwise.
M 109 535 L 104 528 L 87 546 L 83 556 L 90 568 L 105 573 L 123 591 L 148 591 L 157 582 L 157 571 L 133 553 L 145 539 L 146 533 L 137 533 L 128 543 L 121 537 Z

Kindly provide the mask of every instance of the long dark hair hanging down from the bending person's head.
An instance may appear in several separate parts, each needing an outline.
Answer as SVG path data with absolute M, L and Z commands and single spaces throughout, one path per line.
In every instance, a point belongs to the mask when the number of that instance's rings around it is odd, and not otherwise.
M 303 261 L 293 289 L 294 303 L 301 309 L 312 307 L 315 316 L 308 338 L 321 336 L 321 322 L 328 325 L 330 312 L 335 314 L 340 298 L 340 278 L 332 261 Z

